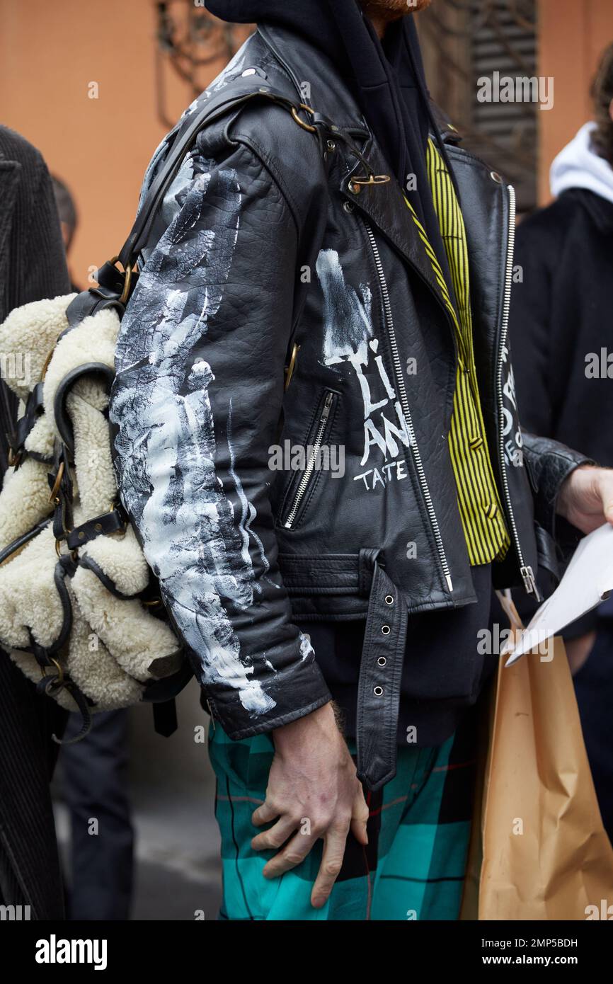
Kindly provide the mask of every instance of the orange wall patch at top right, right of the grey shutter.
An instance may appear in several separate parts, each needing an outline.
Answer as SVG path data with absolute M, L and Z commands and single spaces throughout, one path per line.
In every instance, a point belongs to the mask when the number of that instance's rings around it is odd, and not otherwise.
M 549 165 L 591 118 L 589 84 L 613 41 L 613 0 L 539 0 L 539 75 L 554 79 L 554 106 L 538 113 L 539 199 L 550 200 Z

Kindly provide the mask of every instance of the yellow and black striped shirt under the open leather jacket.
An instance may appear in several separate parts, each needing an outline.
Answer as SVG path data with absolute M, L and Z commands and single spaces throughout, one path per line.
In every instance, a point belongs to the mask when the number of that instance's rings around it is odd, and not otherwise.
M 456 476 L 460 520 L 470 564 L 488 564 L 505 556 L 510 538 L 496 488 L 479 399 L 472 347 L 466 231 L 451 175 L 432 140 L 428 141 L 426 163 L 458 311 L 452 302 L 441 265 L 428 242 L 425 229 L 410 203 L 406 199 L 405 201 L 432 263 L 434 276 L 456 330 L 458 372 L 449 450 Z

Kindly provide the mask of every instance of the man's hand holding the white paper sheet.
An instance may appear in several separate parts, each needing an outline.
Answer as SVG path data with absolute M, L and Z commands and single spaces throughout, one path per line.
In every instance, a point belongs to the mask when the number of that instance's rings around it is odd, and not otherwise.
M 556 512 L 582 533 L 613 524 L 613 468 L 575 468 L 560 489 Z

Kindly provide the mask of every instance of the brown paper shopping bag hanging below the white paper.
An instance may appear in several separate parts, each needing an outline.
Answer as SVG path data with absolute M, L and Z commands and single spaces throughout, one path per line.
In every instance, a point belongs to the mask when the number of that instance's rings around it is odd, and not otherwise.
M 521 622 L 501 602 L 515 629 Z M 502 657 L 483 734 L 462 919 L 613 918 L 613 848 L 602 827 L 564 642 Z M 613 708 L 612 708 L 613 710 Z M 480 809 L 479 809 L 480 807 Z

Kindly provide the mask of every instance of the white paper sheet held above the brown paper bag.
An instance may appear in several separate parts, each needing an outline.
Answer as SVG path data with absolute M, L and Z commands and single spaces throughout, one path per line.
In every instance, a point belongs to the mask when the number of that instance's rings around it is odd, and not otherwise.
M 595 608 L 613 591 L 613 526 L 599 526 L 583 537 L 566 573 L 521 633 L 516 646 L 510 640 L 501 655 L 512 653 L 505 663 L 511 666 L 525 652 L 542 646 L 585 612 Z

